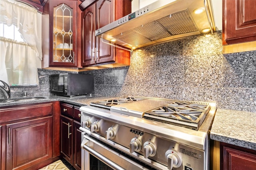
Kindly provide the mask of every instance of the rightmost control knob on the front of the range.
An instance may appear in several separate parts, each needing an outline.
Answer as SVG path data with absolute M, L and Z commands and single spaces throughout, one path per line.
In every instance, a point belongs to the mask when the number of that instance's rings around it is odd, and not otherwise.
M 181 166 L 182 161 L 176 151 L 167 150 L 165 153 L 165 157 L 168 161 L 168 170 L 172 170 L 172 168 L 178 168 Z

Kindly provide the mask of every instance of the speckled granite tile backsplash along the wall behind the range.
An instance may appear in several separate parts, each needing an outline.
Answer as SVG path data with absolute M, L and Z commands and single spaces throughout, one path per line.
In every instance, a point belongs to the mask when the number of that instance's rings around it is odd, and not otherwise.
M 79 74 L 94 74 L 95 94 L 215 101 L 218 108 L 256 112 L 256 51 L 222 55 L 222 31 L 140 50 L 131 53 L 130 66 Z M 38 69 L 39 86 L 11 88 L 12 95 L 50 94 L 49 75 L 61 72 Z

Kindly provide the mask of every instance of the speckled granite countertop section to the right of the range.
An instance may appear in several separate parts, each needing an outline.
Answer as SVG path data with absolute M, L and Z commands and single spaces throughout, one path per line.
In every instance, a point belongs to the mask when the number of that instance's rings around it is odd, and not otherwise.
M 256 113 L 217 109 L 210 139 L 256 150 Z

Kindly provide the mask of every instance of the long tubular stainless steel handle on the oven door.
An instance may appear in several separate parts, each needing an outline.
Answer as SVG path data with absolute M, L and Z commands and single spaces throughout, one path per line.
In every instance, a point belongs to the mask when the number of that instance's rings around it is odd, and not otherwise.
M 87 136 L 88 137 L 88 136 Z M 88 137 L 90 138 L 90 137 Z M 81 143 L 81 148 L 87 150 L 88 152 L 90 152 L 91 154 L 93 154 L 94 156 L 98 157 L 99 159 L 101 159 L 102 161 L 106 162 L 109 166 L 112 166 L 112 168 L 117 169 L 117 170 L 125 170 L 124 168 L 122 168 L 121 166 L 119 166 L 118 164 L 112 162 L 111 160 L 109 160 L 108 158 L 106 158 L 105 156 L 102 156 L 100 153 L 96 152 L 95 150 L 91 149 L 90 147 L 88 147 L 86 144 L 89 144 L 90 140 L 86 139 L 84 137 L 82 143 Z M 93 141 L 94 143 L 96 143 L 97 145 L 101 145 L 100 143 Z

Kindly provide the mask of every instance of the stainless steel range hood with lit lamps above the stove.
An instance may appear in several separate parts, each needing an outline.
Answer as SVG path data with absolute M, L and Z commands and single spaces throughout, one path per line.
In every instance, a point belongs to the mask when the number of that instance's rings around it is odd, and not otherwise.
M 200 8 L 202 13 L 195 14 Z M 100 29 L 102 41 L 129 49 L 215 31 L 210 0 L 158 0 Z M 108 40 L 108 41 L 106 41 Z M 112 42 L 112 44 L 114 44 Z

